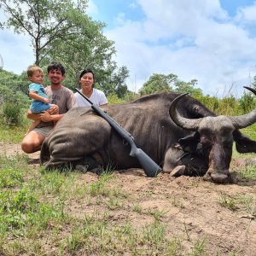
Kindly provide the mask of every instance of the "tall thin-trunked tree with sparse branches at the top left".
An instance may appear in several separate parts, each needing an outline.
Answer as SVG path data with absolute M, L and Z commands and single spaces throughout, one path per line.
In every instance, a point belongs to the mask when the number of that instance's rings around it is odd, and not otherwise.
M 9 16 L 0 22 L 1 28 L 13 28 L 32 40 L 37 65 L 48 55 L 50 44 L 79 33 L 77 27 L 86 26 L 87 0 L 0 0 L 0 7 Z

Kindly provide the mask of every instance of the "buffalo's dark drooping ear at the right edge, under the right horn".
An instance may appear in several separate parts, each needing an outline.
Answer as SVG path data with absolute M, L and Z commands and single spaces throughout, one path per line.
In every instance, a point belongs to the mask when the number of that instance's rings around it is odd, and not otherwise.
M 239 130 L 233 132 L 236 150 L 239 153 L 256 153 L 256 142 L 246 137 Z

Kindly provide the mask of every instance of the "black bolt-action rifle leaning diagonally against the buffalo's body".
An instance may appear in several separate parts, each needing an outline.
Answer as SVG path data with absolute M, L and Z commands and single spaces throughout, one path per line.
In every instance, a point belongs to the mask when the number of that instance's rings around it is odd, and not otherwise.
M 125 139 L 127 143 L 131 146 L 131 152 L 130 155 L 132 157 L 136 157 L 141 166 L 143 167 L 143 170 L 145 171 L 146 175 L 148 177 L 156 177 L 156 175 L 161 171 L 160 166 L 158 166 L 154 160 L 152 160 L 148 154 L 146 154 L 143 149 L 137 148 L 136 144 L 134 143 L 134 138 L 131 137 L 131 134 L 128 131 L 125 131 L 121 125 L 119 125 L 114 119 L 112 119 L 108 113 L 105 113 L 102 108 L 99 108 L 96 106 L 93 102 L 91 102 L 87 96 L 85 96 L 78 88 L 75 88 L 75 90 L 80 94 L 80 96 L 83 96 L 84 99 L 90 103 L 90 107 L 98 113 L 103 119 L 108 121 L 108 124 L 112 126 L 113 130 L 115 130 L 120 137 Z

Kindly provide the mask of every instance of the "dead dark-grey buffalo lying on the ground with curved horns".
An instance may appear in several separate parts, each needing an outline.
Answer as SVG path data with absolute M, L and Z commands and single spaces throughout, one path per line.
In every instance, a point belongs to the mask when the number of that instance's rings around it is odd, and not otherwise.
M 233 142 L 240 153 L 256 152 L 256 142 L 238 130 L 256 121 L 256 109 L 237 117 L 217 116 L 191 96 L 175 93 L 143 96 L 103 109 L 163 172 L 173 176 L 197 173 L 215 183 L 228 183 Z M 103 167 L 140 167 L 130 151 L 130 145 L 90 107 L 73 108 L 44 140 L 40 159 L 46 168 L 84 162 L 91 156 Z

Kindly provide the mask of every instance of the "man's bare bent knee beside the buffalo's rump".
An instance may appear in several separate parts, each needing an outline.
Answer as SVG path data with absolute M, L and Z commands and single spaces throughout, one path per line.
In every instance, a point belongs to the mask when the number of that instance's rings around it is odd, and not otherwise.
M 41 149 L 44 138 L 42 134 L 31 131 L 23 138 L 21 149 L 27 154 L 34 153 Z

